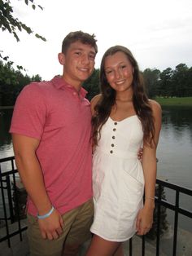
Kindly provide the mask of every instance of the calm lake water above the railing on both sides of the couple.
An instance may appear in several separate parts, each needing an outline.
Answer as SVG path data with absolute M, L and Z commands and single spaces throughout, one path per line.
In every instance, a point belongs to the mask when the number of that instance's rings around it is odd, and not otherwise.
M 13 156 L 8 133 L 12 109 L 0 110 L 0 157 Z M 157 150 L 160 179 L 192 188 L 192 108 L 163 108 L 163 124 Z

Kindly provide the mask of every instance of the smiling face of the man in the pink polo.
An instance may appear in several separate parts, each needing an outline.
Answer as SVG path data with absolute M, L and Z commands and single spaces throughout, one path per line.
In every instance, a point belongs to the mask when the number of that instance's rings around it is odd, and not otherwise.
M 63 55 L 63 78 L 72 86 L 81 86 L 94 70 L 96 52 L 93 46 L 73 42 Z M 61 62 L 60 62 L 61 63 Z

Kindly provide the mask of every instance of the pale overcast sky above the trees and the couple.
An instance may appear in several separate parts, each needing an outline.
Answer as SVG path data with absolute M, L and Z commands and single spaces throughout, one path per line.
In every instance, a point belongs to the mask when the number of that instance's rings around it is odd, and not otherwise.
M 107 48 L 123 45 L 132 51 L 139 68 L 174 69 L 177 64 L 192 66 L 192 1 L 191 0 L 34 0 L 43 11 L 26 6 L 24 0 L 11 0 L 13 15 L 43 42 L 18 33 L 0 31 L 0 50 L 10 60 L 26 69 L 29 76 L 39 74 L 50 80 L 62 74 L 58 61 L 63 38 L 71 31 L 94 33 L 98 40 L 95 68 Z

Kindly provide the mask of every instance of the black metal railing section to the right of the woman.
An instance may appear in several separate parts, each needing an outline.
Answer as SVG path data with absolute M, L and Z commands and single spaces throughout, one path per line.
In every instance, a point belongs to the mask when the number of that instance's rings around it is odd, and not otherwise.
M 174 201 L 174 203 L 168 201 L 166 199 L 166 196 L 164 196 L 164 189 L 168 189 L 170 190 L 169 193 L 172 193 L 172 201 Z M 175 194 L 175 195 L 174 195 Z M 191 210 L 186 210 L 183 207 L 181 207 L 181 194 L 182 196 L 190 196 L 189 198 L 189 206 L 191 208 L 192 205 L 192 190 L 188 189 L 188 188 L 182 188 L 180 186 L 177 186 L 175 184 L 172 183 L 168 183 L 166 181 L 157 179 L 156 180 L 156 193 L 155 193 L 155 213 L 156 213 L 156 219 L 155 219 L 155 252 L 154 255 L 159 256 L 160 254 L 160 240 L 161 240 L 161 228 L 160 228 L 160 223 L 162 222 L 162 208 L 166 209 L 166 210 L 171 210 L 173 213 L 173 225 L 172 225 L 172 229 L 173 229 L 173 236 L 172 236 L 172 243 L 170 243 L 168 250 L 168 256 L 177 256 L 177 232 L 178 232 L 178 217 L 179 214 L 181 214 L 182 216 L 185 216 L 187 218 L 189 218 L 189 223 L 190 221 L 192 221 L 192 211 Z M 192 235 L 192 225 L 189 224 L 191 227 L 191 231 L 190 231 L 190 236 Z M 190 237 L 189 237 L 190 238 Z M 134 247 L 133 247 L 133 240 L 134 240 L 134 236 L 133 239 L 131 239 L 129 241 L 129 256 L 133 256 L 133 251 L 134 251 Z M 146 236 L 142 236 L 142 239 L 140 241 L 141 245 L 141 256 L 148 256 L 146 253 L 146 240 L 147 240 L 147 235 Z M 149 240 L 147 240 L 148 242 Z M 189 245 L 189 243 L 188 243 Z M 189 245 L 189 247 L 191 248 L 191 245 Z M 191 252 L 191 250 L 190 250 Z M 181 253 L 179 254 L 181 255 Z M 188 254 L 182 254 L 182 255 L 188 255 Z M 192 255 L 192 254 L 190 254 Z

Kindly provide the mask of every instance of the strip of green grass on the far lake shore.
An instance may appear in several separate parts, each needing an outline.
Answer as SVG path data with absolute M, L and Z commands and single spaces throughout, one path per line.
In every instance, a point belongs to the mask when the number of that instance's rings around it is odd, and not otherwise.
M 155 100 L 159 102 L 161 106 L 188 106 L 192 107 L 192 97 L 181 97 L 181 98 L 159 98 Z

